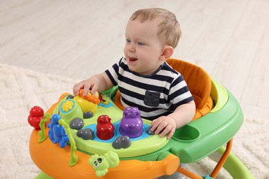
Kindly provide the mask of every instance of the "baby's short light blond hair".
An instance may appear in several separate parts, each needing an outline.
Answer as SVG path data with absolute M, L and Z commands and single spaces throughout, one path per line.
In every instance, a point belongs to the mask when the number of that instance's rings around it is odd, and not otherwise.
M 181 30 L 177 17 L 169 10 L 161 8 L 150 8 L 137 10 L 130 17 L 131 21 L 139 19 L 141 23 L 144 21 L 156 20 L 158 23 L 158 33 L 161 43 L 163 45 L 170 45 L 172 48 L 177 47 L 181 36 Z

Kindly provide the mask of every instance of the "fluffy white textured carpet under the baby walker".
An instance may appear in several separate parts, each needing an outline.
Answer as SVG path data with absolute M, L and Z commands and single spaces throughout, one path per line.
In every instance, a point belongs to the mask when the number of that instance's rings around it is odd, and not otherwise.
M 77 83 L 65 76 L 54 76 L 0 63 L 0 178 L 34 178 L 39 169 L 28 151 L 32 127 L 28 112 L 34 105 L 48 109 L 63 92 L 72 92 Z M 248 117 L 235 136 L 232 152 L 255 178 L 269 178 L 268 120 Z M 188 169 L 201 176 L 210 174 L 215 163 L 205 158 Z M 218 178 L 230 178 L 221 171 Z

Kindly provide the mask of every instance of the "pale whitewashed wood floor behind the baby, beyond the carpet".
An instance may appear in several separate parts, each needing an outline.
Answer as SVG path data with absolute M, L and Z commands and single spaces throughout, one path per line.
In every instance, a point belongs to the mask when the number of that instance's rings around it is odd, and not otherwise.
M 269 116 L 267 0 L 1 0 L 0 63 L 80 81 L 118 61 L 128 18 L 152 7 L 181 23 L 174 58 L 203 67 L 246 116 Z

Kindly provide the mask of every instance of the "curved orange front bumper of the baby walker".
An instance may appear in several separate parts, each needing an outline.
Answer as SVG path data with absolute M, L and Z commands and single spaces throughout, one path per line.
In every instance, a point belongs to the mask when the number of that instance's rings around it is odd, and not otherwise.
M 46 128 L 48 134 L 48 128 Z M 38 143 L 39 131 L 33 130 L 30 137 L 30 156 L 34 163 L 44 173 L 52 178 L 99 178 L 95 175 L 92 166 L 88 164 L 90 155 L 76 151 L 77 165 L 70 167 L 70 147 L 61 149 L 59 144 L 54 144 L 49 138 Z M 108 169 L 103 178 L 156 178 L 171 175 L 179 166 L 179 158 L 168 155 L 160 161 L 120 160 L 115 168 Z M 136 172 L 137 171 L 137 172 Z M 130 176 L 132 175 L 132 176 Z

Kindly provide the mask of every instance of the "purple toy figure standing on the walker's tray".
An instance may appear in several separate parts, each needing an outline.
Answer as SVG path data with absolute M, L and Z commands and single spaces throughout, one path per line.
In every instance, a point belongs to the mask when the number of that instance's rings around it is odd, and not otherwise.
M 122 136 L 137 138 L 143 134 L 143 120 L 137 107 L 126 107 L 121 118 L 119 132 Z

